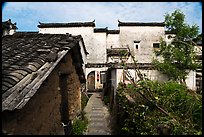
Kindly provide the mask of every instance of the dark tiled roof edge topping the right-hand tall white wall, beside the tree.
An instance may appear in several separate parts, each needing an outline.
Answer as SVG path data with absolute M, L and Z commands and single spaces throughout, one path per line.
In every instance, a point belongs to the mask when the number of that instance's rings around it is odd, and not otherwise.
M 121 22 L 118 20 L 118 26 L 165 26 L 164 22 Z

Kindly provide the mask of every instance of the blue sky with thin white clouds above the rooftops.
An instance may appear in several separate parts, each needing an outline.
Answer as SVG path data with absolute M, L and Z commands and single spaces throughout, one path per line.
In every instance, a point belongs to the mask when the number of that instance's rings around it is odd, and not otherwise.
M 180 9 L 189 25 L 202 32 L 201 2 L 6 2 L 2 21 L 17 23 L 18 31 L 38 31 L 38 22 L 87 22 L 97 28 L 118 29 L 120 21 L 163 22 L 165 13 Z

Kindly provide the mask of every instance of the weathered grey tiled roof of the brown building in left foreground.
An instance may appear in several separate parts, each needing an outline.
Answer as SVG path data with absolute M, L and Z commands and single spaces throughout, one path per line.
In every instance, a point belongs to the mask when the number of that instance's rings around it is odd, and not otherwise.
M 39 33 L 2 37 L 2 111 L 22 108 L 63 56 L 79 47 L 81 39 L 69 34 Z M 80 55 L 74 58 L 83 62 Z M 83 73 L 82 68 L 77 69 Z

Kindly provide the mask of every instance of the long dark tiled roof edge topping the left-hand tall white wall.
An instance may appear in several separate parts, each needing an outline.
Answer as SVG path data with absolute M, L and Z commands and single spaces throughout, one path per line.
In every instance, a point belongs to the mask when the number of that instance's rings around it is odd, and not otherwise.
M 53 28 L 53 27 L 95 27 L 93 22 L 73 22 L 73 23 L 41 23 L 38 28 Z

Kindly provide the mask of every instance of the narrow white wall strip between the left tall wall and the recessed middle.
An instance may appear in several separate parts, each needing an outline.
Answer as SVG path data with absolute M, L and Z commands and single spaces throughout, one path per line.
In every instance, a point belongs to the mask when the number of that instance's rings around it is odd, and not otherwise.
M 91 63 L 106 63 L 106 36 L 104 32 L 94 33 L 94 43 L 89 58 Z

